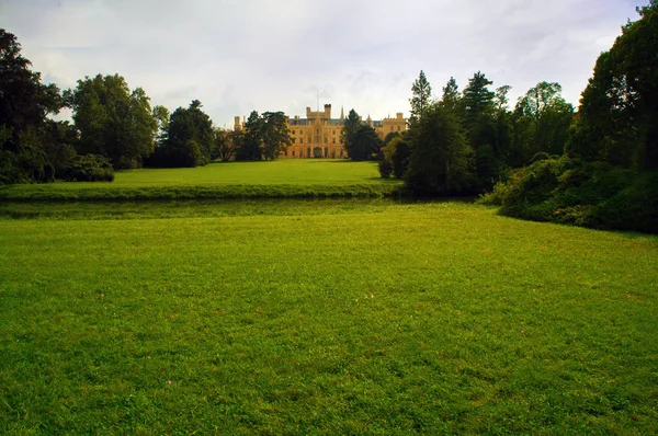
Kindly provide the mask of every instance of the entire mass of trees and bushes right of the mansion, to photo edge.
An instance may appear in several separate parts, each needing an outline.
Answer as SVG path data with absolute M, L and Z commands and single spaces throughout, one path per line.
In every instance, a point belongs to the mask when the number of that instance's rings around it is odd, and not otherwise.
M 503 215 L 658 232 L 658 0 L 637 8 L 574 107 L 541 82 L 509 108 L 481 72 L 433 99 L 423 71 L 408 130 L 387 137 L 382 176 L 413 195 L 481 194 Z

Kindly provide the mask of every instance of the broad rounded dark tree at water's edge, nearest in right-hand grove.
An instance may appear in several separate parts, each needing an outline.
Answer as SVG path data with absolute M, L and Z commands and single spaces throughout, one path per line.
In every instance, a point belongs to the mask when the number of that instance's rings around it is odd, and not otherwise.
M 411 135 L 407 188 L 417 195 L 454 195 L 469 190 L 473 151 L 456 115 L 441 104 L 432 104 Z

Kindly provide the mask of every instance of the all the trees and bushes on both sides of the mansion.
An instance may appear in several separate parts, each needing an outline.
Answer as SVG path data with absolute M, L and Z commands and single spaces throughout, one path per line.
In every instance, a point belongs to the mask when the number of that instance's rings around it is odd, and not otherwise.
M 484 196 L 509 216 L 594 228 L 658 231 L 658 1 L 637 9 L 599 57 L 578 111 L 555 82 L 512 106 L 509 85 L 478 71 L 440 97 L 421 71 L 408 130 L 382 141 L 350 111 L 342 131 L 353 160 L 416 196 Z M 252 112 L 241 130 L 216 128 L 203 105 L 169 113 L 118 76 L 86 77 L 61 92 L 43 84 L 0 30 L 0 184 L 112 181 L 115 170 L 272 160 L 292 144 L 282 112 Z M 72 124 L 50 115 L 72 110 Z

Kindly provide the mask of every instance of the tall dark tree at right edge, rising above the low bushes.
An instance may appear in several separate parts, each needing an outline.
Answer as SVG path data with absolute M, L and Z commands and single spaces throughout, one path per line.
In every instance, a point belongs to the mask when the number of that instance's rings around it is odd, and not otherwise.
M 638 12 L 597 60 L 568 152 L 644 171 L 658 169 L 658 5 Z

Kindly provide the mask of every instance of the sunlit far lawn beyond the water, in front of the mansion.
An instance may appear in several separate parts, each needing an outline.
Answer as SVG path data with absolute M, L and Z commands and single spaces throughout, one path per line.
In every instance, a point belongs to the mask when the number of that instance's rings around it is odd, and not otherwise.
M 389 196 L 399 185 L 379 177 L 374 162 L 288 159 L 120 171 L 112 183 L 0 186 L 0 200 Z

